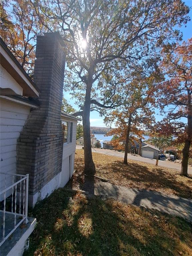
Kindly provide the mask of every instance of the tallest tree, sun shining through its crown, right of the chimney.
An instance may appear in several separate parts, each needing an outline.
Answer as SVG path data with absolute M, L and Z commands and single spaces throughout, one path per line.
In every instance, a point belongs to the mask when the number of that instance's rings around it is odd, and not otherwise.
M 90 143 L 90 108 L 113 106 L 112 95 L 102 103 L 94 97 L 100 77 L 109 79 L 109 73 L 113 77 L 120 62 L 130 68 L 135 62 L 145 65 L 159 53 L 162 44 L 181 39 L 175 27 L 188 21 L 189 8 L 181 0 L 30 2 L 41 24 L 49 31 L 57 28 L 63 35 L 69 78 L 73 74 L 75 79 L 67 86 L 83 90 L 83 104 L 76 115 L 83 119 L 85 173 L 92 176 L 95 165 Z

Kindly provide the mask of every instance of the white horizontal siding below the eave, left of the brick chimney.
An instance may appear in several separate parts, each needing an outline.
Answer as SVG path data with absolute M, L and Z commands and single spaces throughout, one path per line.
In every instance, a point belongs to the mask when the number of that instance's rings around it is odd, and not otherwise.
M 0 172 L 12 174 L 16 173 L 17 139 L 25 125 L 30 107 L 2 98 L 0 104 Z M 6 175 L 7 187 L 12 184 L 11 176 Z M 5 175 L 1 175 L 0 178 L 0 188 L 3 190 Z

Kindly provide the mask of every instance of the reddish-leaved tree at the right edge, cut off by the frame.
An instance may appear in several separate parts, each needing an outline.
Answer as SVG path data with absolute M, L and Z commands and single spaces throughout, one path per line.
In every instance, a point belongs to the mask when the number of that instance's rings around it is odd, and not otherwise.
M 159 126 L 164 134 L 173 134 L 178 143 L 184 143 L 181 175 L 187 176 L 192 140 L 192 38 L 174 49 L 168 45 L 162 54 L 162 71 L 168 78 L 158 86 L 158 105 L 169 109 Z

